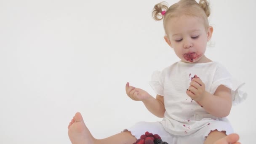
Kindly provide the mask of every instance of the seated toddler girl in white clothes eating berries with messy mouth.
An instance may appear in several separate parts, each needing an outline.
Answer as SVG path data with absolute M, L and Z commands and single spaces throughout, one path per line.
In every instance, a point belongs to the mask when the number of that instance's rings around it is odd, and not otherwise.
M 213 33 L 208 1 L 180 0 L 169 8 L 162 2 L 155 5 L 152 15 L 163 19 L 164 39 L 180 61 L 153 73 L 149 84 L 156 97 L 129 83 L 125 90 L 163 120 L 139 122 L 114 136 L 95 139 L 77 113 L 68 126 L 72 144 L 133 144 L 146 131 L 169 144 L 238 144 L 239 137 L 226 117 L 232 104 L 246 98 L 240 90 L 244 83 L 205 56 Z

